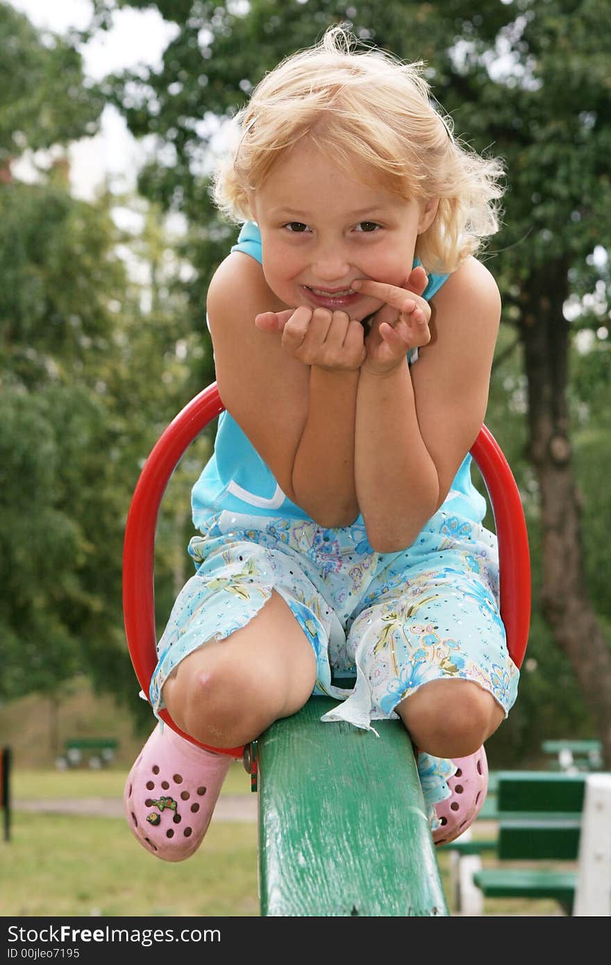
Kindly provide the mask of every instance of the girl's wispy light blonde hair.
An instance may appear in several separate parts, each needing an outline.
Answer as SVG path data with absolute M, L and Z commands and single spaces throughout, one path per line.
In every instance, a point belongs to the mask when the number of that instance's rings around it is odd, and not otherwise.
M 239 139 L 213 177 L 214 201 L 232 220 L 304 136 L 340 167 L 403 199 L 439 198 L 418 236 L 429 271 L 453 271 L 498 231 L 503 166 L 459 145 L 432 106 L 422 63 L 404 64 L 376 48 L 355 49 L 343 26 L 267 73 L 236 115 Z

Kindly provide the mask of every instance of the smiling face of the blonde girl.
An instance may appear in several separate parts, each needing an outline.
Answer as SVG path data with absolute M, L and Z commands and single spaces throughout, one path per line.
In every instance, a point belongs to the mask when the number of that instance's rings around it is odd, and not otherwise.
M 357 278 L 403 287 L 418 234 L 436 200 L 404 201 L 350 177 L 307 138 L 251 198 L 261 230 L 264 276 L 289 308 L 347 312 L 362 321 L 380 302 L 350 289 Z

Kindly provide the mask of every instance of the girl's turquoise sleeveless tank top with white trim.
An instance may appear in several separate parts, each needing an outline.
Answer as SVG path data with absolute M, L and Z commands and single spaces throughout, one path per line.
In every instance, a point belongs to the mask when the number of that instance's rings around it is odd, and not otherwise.
M 240 251 L 262 263 L 262 244 L 259 227 L 246 222 L 232 252 Z M 415 261 L 414 265 L 419 262 Z M 431 298 L 447 279 L 447 275 L 430 275 L 423 293 Z M 409 358 L 412 365 L 417 351 Z M 447 505 L 446 505 L 447 504 Z M 264 460 L 237 425 L 229 412 L 222 412 L 218 420 L 214 453 L 191 491 L 193 523 L 198 530 L 206 529 L 211 515 L 227 510 L 258 516 L 290 516 L 309 519 L 308 514 L 280 488 Z M 471 456 L 466 455 L 448 493 L 443 509 L 481 522 L 486 513 L 486 500 L 471 480 Z M 359 516 L 357 523 L 363 525 Z

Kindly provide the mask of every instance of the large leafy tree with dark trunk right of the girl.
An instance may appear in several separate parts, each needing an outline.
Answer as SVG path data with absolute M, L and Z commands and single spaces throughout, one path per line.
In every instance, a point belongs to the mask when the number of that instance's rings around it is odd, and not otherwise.
M 119 3 L 124 5 L 151 6 L 149 0 Z M 99 17 L 108 6 L 97 0 Z M 592 363 L 590 372 L 606 377 L 608 385 L 608 376 L 600 374 L 608 372 L 608 339 L 602 331 L 608 273 L 595 249 L 606 252 L 610 240 L 609 5 L 604 0 L 389 0 L 383 5 L 372 0 L 158 0 L 156 7 L 180 28 L 162 68 L 108 78 L 105 91 L 122 106 L 136 135 L 153 134 L 165 149 L 143 172 L 142 189 L 200 226 L 201 255 L 194 261 L 203 286 L 226 253 L 228 236 L 208 201 L 202 161 L 210 136 L 203 122 L 234 114 L 266 70 L 318 40 L 331 22 L 351 22 L 361 38 L 406 60 L 424 59 L 433 93 L 452 113 L 457 135 L 506 159 L 505 227 L 488 257 L 494 256 L 503 325 L 514 333 L 523 381 L 518 378 L 505 399 L 522 394 L 519 415 L 525 424 L 510 437 L 506 429 L 515 420 L 508 423 L 499 415 L 491 428 L 519 465 L 522 457 L 513 443 L 521 434 L 528 458 L 525 498 L 529 509 L 537 508 L 531 537 L 535 560 L 541 561 L 535 566 L 538 603 L 558 648 L 545 660 L 552 678 L 547 693 L 559 668 L 568 666 L 611 763 L 611 652 L 601 621 L 608 605 L 599 604 L 596 588 L 588 583 L 573 460 L 573 440 L 579 444 L 583 425 L 576 425 L 569 407 L 569 363 L 580 330 L 599 330 L 596 352 L 585 364 Z M 595 291 L 596 304 L 591 298 L 589 305 L 585 296 Z M 499 351 L 508 347 L 501 340 Z M 608 444 L 594 423 L 590 427 L 597 465 L 606 460 L 601 470 L 606 478 Z M 587 480 L 581 477 L 579 483 L 587 490 Z M 599 509 L 608 521 L 608 507 Z M 594 526 L 608 529 L 599 518 Z M 538 617 L 534 625 L 539 633 Z M 533 652 L 539 653 L 533 636 Z M 563 709 L 566 714 L 566 704 Z M 566 716 L 556 726 L 564 730 Z

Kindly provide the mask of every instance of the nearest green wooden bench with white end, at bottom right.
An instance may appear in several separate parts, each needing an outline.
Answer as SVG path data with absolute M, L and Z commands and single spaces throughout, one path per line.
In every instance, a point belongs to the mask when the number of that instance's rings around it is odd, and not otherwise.
M 500 864 L 475 870 L 482 894 L 611 916 L 611 774 L 506 771 L 497 793 Z

